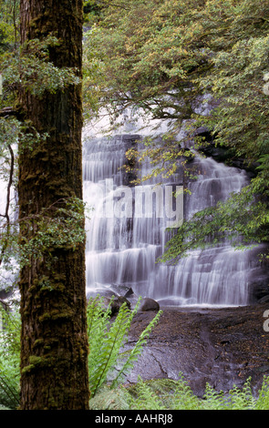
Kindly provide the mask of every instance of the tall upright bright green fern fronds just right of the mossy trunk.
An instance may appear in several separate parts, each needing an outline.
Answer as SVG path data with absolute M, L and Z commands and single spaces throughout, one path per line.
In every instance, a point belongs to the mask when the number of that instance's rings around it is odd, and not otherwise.
M 122 376 L 131 370 L 147 342 L 150 331 L 159 321 L 161 311 L 142 331 L 136 345 L 124 352 L 123 347 L 128 341 L 130 323 L 138 311 L 140 301 L 130 311 L 126 303 L 120 306 L 117 318 L 111 322 L 111 303 L 105 309 L 104 300 L 97 296 L 88 302 L 88 340 L 89 340 L 89 386 L 92 397 L 104 382 L 111 383 L 111 388 L 119 384 Z M 109 378 L 108 378 L 109 376 Z

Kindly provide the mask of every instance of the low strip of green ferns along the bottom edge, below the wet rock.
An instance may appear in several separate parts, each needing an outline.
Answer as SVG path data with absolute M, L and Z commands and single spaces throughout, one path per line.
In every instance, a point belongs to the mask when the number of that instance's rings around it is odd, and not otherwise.
M 90 401 L 93 410 L 268 410 L 269 381 L 264 382 L 255 397 L 248 379 L 243 388 L 233 387 L 228 392 L 217 392 L 207 383 L 202 398 L 197 397 L 189 383 L 180 373 L 177 381 L 155 379 L 143 381 L 140 377 L 131 386 L 121 386 L 117 390 L 102 388 Z

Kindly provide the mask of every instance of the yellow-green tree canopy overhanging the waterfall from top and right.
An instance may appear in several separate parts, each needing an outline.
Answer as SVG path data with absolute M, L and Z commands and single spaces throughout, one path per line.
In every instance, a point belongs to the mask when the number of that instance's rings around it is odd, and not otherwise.
M 182 125 L 181 143 L 194 140 L 199 148 L 204 141 L 197 129 L 206 128 L 230 159 L 243 158 L 254 171 L 240 195 L 184 223 L 164 259 L 203 245 L 209 231 L 216 238 L 229 231 L 239 246 L 242 234 L 247 244 L 267 241 L 268 0 L 96 2 L 104 3 L 86 40 L 88 106 L 107 107 L 111 116 L 140 107 L 171 120 L 170 136 L 145 151 L 162 175 L 173 173 L 171 165 L 186 154 L 174 138 Z M 157 167 L 161 160 L 169 161 L 168 169 Z

